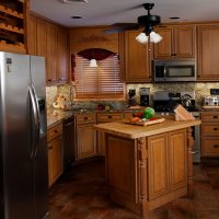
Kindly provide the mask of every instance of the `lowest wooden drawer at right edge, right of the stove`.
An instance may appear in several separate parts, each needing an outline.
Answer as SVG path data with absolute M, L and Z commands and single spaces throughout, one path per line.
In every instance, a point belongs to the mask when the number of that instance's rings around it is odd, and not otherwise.
M 219 138 L 203 138 L 201 142 L 203 155 L 219 155 Z

